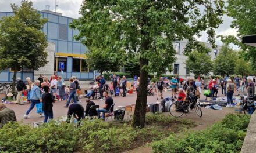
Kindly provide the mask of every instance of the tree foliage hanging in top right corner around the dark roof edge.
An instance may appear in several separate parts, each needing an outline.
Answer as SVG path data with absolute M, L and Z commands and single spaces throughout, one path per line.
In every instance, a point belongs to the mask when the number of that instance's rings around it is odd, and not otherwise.
M 244 59 L 250 61 L 253 69 L 256 70 L 256 48 L 244 45 L 241 42 L 243 35 L 256 34 L 256 22 L 254 15 L 256 14 L 256 2 L 255 0 L 228 0 L 227 3 L 227 16 L 234 19 L 230 27 L 237 30 L 237 36 L 221 36 L 222 41 L 226 43 L 234 43 L 235 45 L 240 46 L 244 52 Z

